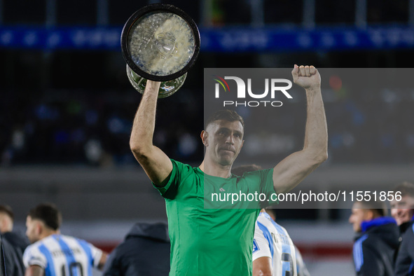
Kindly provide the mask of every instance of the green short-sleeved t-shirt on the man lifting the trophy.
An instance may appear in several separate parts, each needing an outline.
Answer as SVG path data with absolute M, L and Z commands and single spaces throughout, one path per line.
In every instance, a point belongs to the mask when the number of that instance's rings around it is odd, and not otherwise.
M 224 179 L 174 160 L 172 165 L 167 184 L 156 187 L 166 202 L 170 275 L 251 275 L 254 223 L 260 209 L 206 209 L 204 195 L 242 189 L 270 196 L 275 193 L 273 170 Z

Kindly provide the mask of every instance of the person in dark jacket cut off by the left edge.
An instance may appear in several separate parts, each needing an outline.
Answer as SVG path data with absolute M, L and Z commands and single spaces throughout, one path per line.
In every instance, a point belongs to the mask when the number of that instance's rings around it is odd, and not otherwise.
M 0 205 L 0 232 L 4 238 L 4 247 L 8 256 L 7 275 L 23 275 L 25 265 L 23 264 L 23 252 L 29 245 L 26 237 L 13 232 L 14 214 L 8 205 Z M 11 252 L 13 251 L 13 253 Z

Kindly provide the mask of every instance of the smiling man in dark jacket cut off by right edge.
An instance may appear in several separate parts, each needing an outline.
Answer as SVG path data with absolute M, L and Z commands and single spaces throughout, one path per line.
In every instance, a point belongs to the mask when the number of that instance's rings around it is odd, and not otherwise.
M 395 263 L 395 275 L 414 275 L 414 184 L 403 182 L 394 192 L 401 192 L 401 200 L 391 202 L 392 215 L 399 224 L 401 243 Z

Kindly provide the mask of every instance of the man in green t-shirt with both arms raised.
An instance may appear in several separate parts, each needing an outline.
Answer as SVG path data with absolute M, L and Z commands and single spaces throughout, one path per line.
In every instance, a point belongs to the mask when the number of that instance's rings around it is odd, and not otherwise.
M 244 122 L 234 111 L 219 111 L 201 132 L 205 157 L 199 167 L 179 163 L 153 145 L 160 83 L 147 81 L 134 118 L 130 147 L 153 185 L 165 198 L 171 239 L 170 275 L 251 275 L 256 209 L 207 208 L 213 193 L 285 193 L 327 158 L 326 118 L 319 72 L 294 66 L 294 83 L 308 102 L 303 149 L 274 168 L 230 173 L 243 146 Z M 205 200 L 206 199 L 206 200 Z

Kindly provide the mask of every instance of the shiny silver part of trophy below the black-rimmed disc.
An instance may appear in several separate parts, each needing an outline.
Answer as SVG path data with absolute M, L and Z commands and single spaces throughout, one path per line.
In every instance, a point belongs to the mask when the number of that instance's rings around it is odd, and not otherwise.
M 142 76 L 139 76 L 137 73 L 132 71 L 132 69 L 128 65 L 127 76 L 128 80 L 130 80 L 130 83 L 135 88 L 135 90 L 137 90 L 141 94 L 144 94 L 147 79 L 143 78 Z M 162 81 L 160 85 L 160 90 L 158 91 L 158 98 L 169 97 L 175 92 L 177 92 L 177 90 L 179 90 L 181 86 L 184 84 L 186 76 L 187 73 L 185 73 L 182 76 L 179 76 L 178 78 L 174 78 L 171 81 Z

